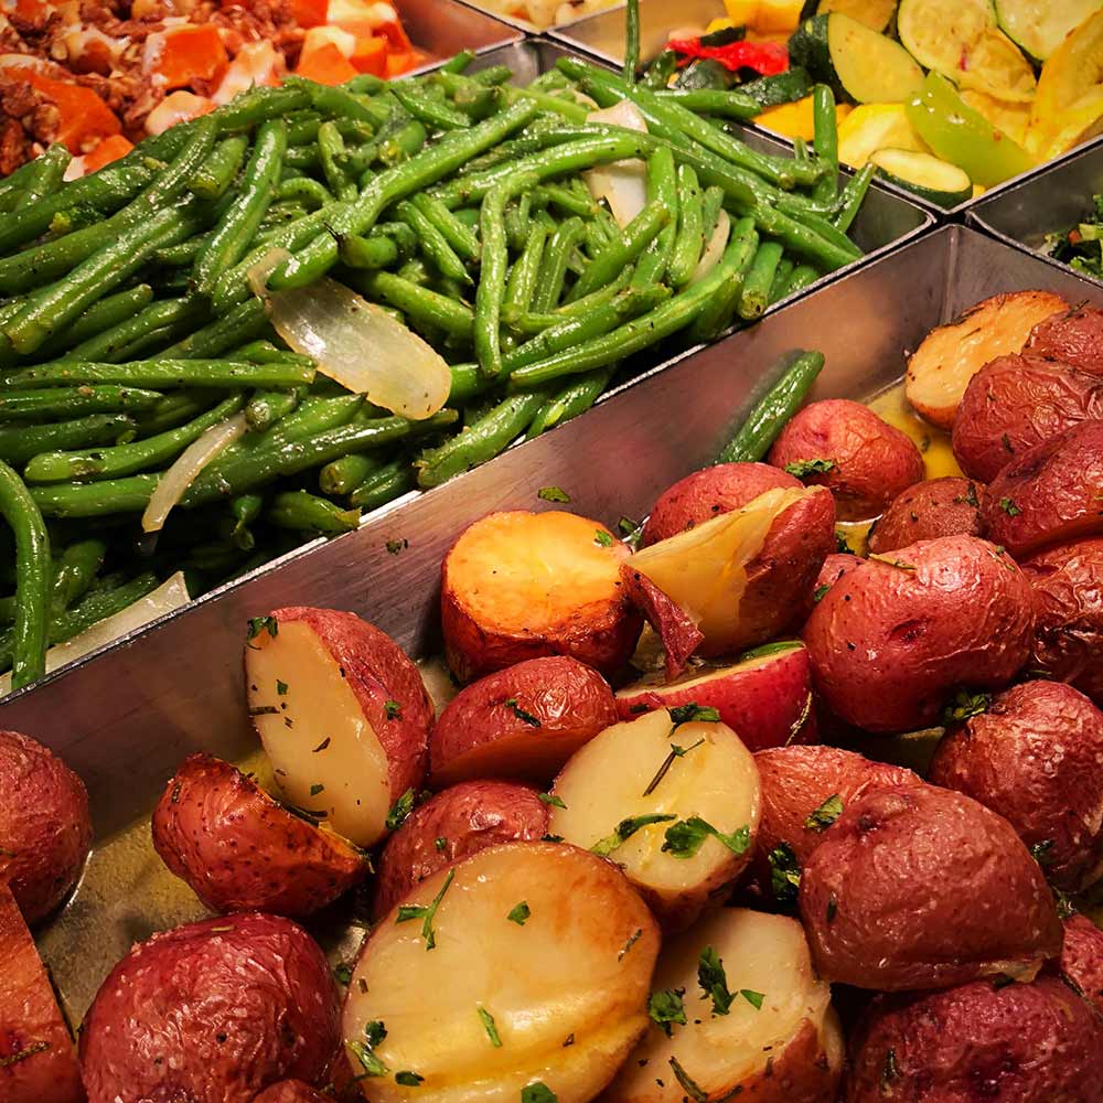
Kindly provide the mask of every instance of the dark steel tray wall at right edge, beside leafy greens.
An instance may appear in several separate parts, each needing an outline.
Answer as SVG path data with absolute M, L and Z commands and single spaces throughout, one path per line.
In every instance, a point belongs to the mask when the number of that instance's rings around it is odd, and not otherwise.
M 1091 211 L 1092 196 L 1100 192 L 1103 192 L 1103 138 L 1014 188 L 978 200 L 970 208 L 968 224 L 1068 271 L 1067 265 L 1038 250 L 1045 245 L 1047 234 L 1064 233 Z

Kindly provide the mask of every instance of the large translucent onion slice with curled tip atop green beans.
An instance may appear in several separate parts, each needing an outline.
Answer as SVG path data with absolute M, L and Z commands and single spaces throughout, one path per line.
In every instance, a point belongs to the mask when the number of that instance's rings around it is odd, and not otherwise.
M 320 279 L 269 295 L 269 274 L 288 254 L 272 249 L 249 269 L 249 286 L 267 301 L 276 332 L 315 361 L 322 375 L 403 417 L 431 417 L 448 401 L 445 358 L 385 310 L 343 283 Z

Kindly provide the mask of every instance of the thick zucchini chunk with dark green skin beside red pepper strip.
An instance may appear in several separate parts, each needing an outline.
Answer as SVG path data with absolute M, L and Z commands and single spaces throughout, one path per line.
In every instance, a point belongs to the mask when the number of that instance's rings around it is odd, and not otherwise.
M 843 12 L 806 19 L 789 40 L 789 55 L 853 103 L 902 104 L 923 84 L 906 50 Z

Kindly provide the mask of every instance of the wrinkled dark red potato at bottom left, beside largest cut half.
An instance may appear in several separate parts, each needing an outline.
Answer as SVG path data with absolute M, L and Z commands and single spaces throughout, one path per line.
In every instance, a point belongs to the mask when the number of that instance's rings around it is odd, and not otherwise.
M 81 1031 L 88 1103 L 251 1103 L 321 1082 L 340 1003 L 318 944 L 259 912 L 189 923 L 130 951 Z

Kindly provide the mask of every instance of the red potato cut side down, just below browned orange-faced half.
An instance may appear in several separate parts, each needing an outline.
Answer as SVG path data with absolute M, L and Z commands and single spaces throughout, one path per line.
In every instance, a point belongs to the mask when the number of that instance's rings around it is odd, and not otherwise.
M 529 658 L 461 689 L 429 740 L 433 789 L 472 778 L 549 782 L 564 762 L 617 721 L 612 689 L 577 658 Z

